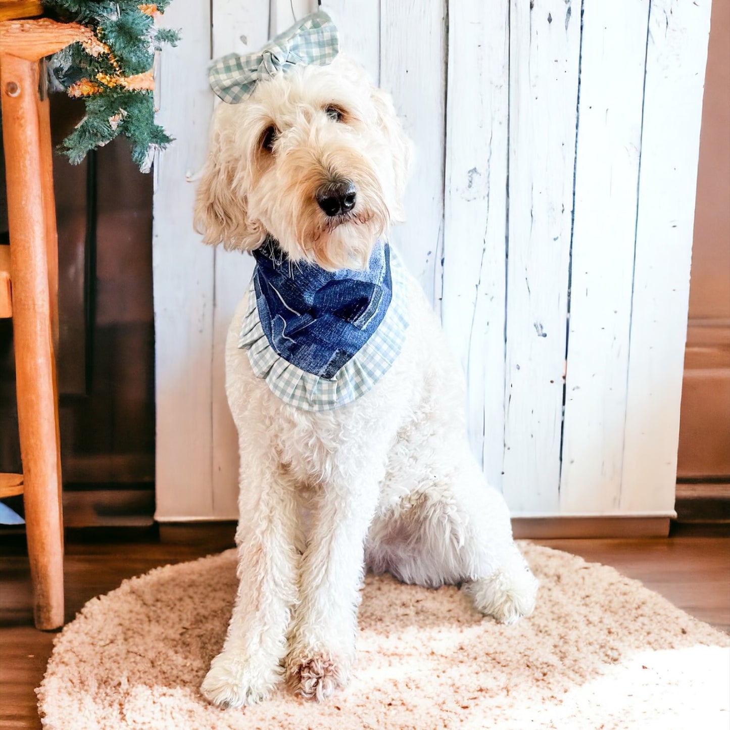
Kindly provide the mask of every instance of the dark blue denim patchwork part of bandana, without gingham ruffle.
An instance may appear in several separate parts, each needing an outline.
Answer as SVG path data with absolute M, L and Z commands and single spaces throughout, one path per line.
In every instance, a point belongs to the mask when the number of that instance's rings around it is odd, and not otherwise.
M 363 271 L 292 264 L 274 239 L 253 252 L 261 327 L 274 352 L 331 379 L 383 321 L 393 295 L 390 249 L 377 242 Z

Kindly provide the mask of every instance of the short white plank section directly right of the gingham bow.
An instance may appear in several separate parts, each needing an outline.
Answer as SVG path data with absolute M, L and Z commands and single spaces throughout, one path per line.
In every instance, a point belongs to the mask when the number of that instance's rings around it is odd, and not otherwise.
M 326 0 L 327 12 L 339 31 L 339 47 L 380 82 L 380 0 Z

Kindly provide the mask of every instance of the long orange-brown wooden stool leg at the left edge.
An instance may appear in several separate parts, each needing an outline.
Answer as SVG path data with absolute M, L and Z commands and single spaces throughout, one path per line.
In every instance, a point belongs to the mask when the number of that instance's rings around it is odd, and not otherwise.
M 39 629 L 64 623 L 58 404 L 47 264 L 37 61 L 0 56 L 10 267 L 28 557 Z

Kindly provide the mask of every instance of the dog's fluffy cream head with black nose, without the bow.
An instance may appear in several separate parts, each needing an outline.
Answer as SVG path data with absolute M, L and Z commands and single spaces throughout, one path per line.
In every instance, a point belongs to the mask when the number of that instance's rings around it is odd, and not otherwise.
M 340 54 L 219 104 L 198 188 L 206 243 L 253 250 L 267 235 L 293 261 L 364 265 L 403 220 L 411 146 L 390 97 Z

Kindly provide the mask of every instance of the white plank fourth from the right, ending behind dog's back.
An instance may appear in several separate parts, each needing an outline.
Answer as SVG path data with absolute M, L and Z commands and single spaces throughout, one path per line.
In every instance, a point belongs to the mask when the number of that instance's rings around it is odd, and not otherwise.
M 449 2 L 442 320 L 466 374 L 469 441 L 502 486 L 509 0 Z

